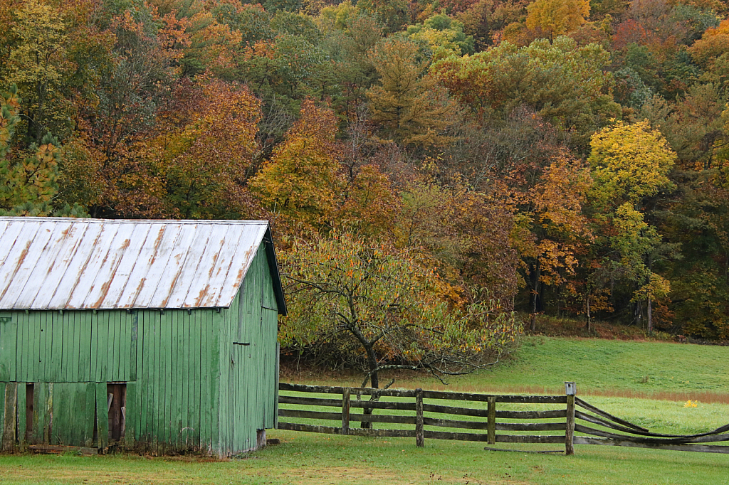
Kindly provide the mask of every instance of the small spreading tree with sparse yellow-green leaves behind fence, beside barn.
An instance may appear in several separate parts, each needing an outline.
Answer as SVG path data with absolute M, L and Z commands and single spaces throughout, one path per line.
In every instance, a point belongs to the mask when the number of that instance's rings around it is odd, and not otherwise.
M 448 308 L 442 282 L 413 251 L 335 233 L 295 241 L 282 264 L 289 316 L 281 343 L 359 366 L 363 385 L 378 388 L 386 369 L 465 374 L 498 360 L 520 331 L 496 301 Z

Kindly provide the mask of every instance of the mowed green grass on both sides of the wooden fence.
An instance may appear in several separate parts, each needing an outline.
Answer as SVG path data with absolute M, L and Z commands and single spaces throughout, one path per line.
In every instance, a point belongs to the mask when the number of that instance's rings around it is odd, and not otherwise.
M 356 376 L 292 376 L 356 385 Z M 424 374 L 394 387 L 443 388 Z M 593 339 L 525 339 L 512 359 L 451 379 L 456 390 L 526 389 L 578 395 L 663 433 L 698 433 L 729 422 L 729 347 Z M 642 396 L 636 398 L 634 396 Z M 645 398 L 651 396 L 653 398 Z M 655 399 L 668 396 L 672 399 Z M 698 400 L 685 407 L 685 399 Z M 574 456 L 486 452 L 483 443 L 359 438 L 270 430 L 281 444 L 222 462 L 200 457 L 0 456 L 0 484 L 631 484 L 729 485 L 729 454 L 575 446 Z M 558 450 L 560 445 L 510 445 Z

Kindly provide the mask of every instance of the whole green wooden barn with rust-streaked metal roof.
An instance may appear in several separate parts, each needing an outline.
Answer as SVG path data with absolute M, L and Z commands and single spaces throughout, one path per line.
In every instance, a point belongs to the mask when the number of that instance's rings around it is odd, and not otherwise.
M 285 314 L 266 221 L 0 218 L 2 448 L 255 449 Z

